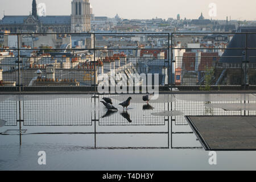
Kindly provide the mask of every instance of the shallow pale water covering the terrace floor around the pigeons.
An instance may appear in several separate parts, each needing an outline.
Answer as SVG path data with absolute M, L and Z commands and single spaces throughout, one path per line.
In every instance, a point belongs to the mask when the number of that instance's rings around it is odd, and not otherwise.
M 22 101 L 22 129 L 27 131 L 21 147 L 19 135 L 0 135 L 0 169 L 256 169 L 256 152 L 217 152 L 218 165 L 209 166 L 208 152 L 199 148 L 184 119 L 184 115 L 255 115 L 254 110 L 222 109 L 223 105 L 241 106 L 244 100 L 254 104 L 253 94 L 160 94 L 159 102 L 149 102 L 153 110 L 143 110 L 146 102 L 138 94 L 132 96 L 127 110 L 132 122 L 118 106 L 128 95 L 113 96 L 118 111 L 104 118 L 104 105 L 90 97 L 1 95 L 0 119 L 7 126 L 0 127 L 0 133 L 19 129 L 8 126 L 16 125 L 18 101 Z M 169 117 L 169 122 L 168 117 L 152 115 L 168 110 L 184 114 Z M 42 150 L 47 153 L 47 166 L 37 164 Z

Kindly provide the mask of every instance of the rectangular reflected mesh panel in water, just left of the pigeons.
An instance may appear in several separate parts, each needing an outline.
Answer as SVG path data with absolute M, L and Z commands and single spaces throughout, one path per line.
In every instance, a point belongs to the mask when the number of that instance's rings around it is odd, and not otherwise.
M 90 98 L 41 98 L 23 102 L 24 126 L 92 126 Z

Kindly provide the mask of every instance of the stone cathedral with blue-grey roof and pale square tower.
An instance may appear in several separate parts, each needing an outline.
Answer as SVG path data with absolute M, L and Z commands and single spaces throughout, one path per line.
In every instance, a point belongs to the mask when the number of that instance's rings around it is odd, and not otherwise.
M 73 0 L 71 16 L 38 16 L 36 0 L 32 2 L 32 14 L 28 16 L 4 16 L 0 20 L 0 30 L 10 32 L 89 32 L 89 0 Z

